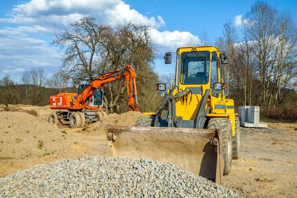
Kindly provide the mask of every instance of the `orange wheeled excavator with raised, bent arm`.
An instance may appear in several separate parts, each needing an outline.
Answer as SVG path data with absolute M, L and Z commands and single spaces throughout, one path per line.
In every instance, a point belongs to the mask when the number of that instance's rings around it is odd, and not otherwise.
M 116 74 L 119 73 L 120 74 Z M 137 111 L 136 73 L 131 65 L 101 75 L 90 84 L 78 86 L 78 93 L 60 93 L 50 96 L 51 109 L 60 109 L 49 114 L 48 121 L 58 124 L 60 120 L 69 121 L 71 128 L 83 127 L 86 122 L 96 122 L 103 110 L 103 86 L 117 80 L 126 80 L 130 111 Z M 67 109 L 67 110 L 61 110 Z

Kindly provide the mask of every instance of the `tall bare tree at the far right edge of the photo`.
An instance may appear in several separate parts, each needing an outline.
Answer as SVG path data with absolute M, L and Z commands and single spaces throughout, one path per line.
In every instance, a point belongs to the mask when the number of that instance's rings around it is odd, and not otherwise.
M 295 88 L 297 79 L 297 27 L 288 11 L 280 13 L 277 29 L 275 66 L 270 90 L 274 104 L 280 106 L 287 96 L 285 90 Z

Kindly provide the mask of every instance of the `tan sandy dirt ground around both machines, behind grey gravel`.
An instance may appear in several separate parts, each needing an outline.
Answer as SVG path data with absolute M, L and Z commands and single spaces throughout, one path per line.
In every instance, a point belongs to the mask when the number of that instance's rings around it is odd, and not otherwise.
M 133 126 L 143 116 L 140 112 L 109 114 L 102 122 L 71 129 L 46 121 L 53 112 L 49 106 L 13 108 L 16 111 L 0 107 L 0 177 L 65 157 L 104 155 L 105 127 Z M 223 186 L 247 198 L 296 198 L 297 124 L 265 123 L 268 129 L 241 128 L 241 158 L 233 160 Z

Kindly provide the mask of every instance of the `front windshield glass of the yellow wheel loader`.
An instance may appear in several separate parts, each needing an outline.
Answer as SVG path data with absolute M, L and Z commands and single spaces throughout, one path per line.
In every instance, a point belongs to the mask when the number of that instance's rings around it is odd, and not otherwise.
M 209 51 L 190 51 L 181 54 L 182 84 L 206 84 L 209 72 Z

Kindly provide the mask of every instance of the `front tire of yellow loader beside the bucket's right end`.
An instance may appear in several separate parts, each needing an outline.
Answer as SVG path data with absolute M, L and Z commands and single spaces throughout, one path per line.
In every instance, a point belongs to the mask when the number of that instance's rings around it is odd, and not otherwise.
M 232 166 L 232 127 L 231 122 L 227 118 L 211 118 L 207 125 L 208 129 L 221 129 L 224 157 L 224 175 L 228 175 Z

